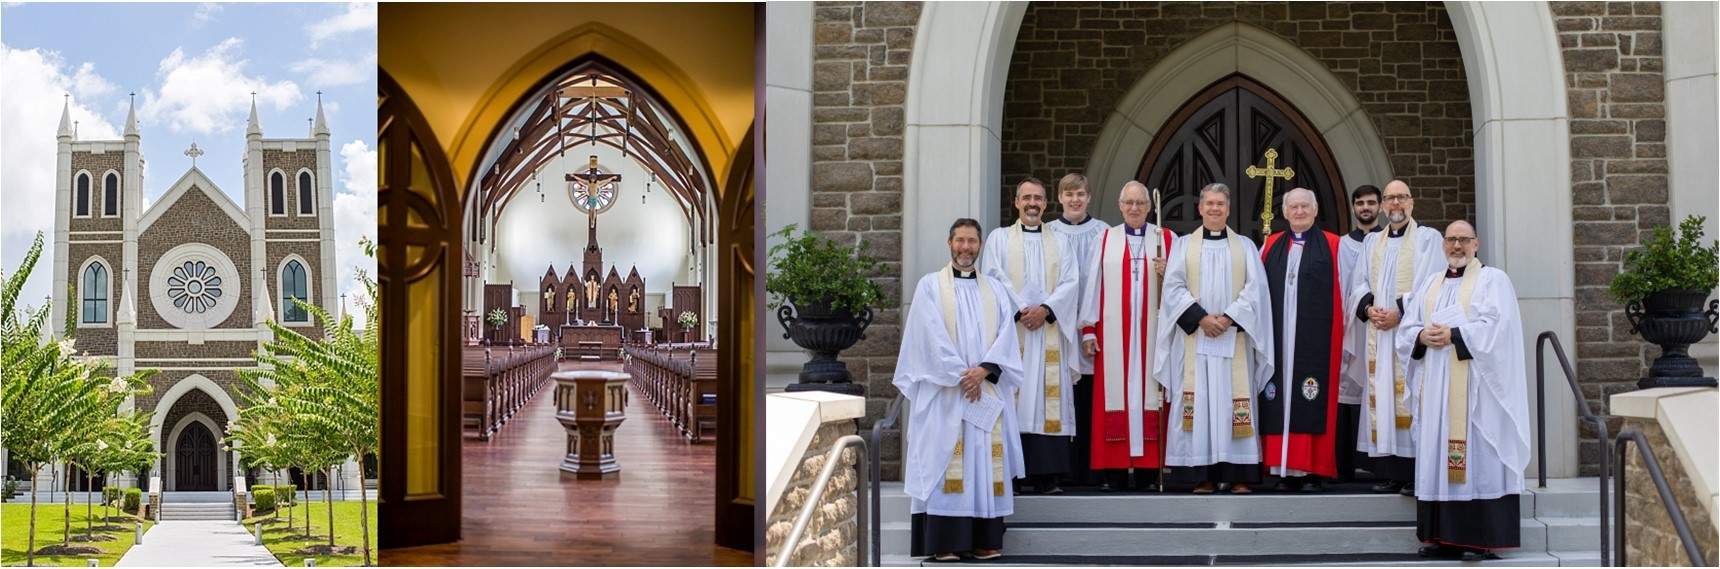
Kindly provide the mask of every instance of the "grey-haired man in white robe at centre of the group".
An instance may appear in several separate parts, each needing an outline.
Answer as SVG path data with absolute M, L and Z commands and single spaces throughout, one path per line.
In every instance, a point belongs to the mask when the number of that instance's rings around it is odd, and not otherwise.
M 1273 375 L 1261 249 L 1230 222 L 1230 187 L 1201 189 L 1201 227 L 1171 246 L 1152 375 L 1170 399 L 1168 483 L 1252 493 L 1261 481 L 1256 397 Z M 1216 485 L 1225 485 L 1219 488 Z

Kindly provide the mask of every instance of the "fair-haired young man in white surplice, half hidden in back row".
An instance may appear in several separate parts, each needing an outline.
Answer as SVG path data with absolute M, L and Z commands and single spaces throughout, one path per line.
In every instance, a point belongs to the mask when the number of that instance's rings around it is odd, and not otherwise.
M 1075 303 L 1077 313 L 1085 313 L 1087 304 L 1096 303 L 1085 296 L 1087 291 L 1087 270 L 1099 258 L 1099 236 L 1104 234 L 1104 222 L 1087 215 L 1087 205 L 1092 201 L 1092 194 L 1087 191 L 1087 177 L 1078 172 L 1065 174 L 1058 180 L 1058 205 L 1063 206 L 1063 213 L 1046 225 L 1058 236 L 1063 236 L 1063 242 L 1068 244 L 1075 256 L 1077 270 L 1077 291 L 1082 296 Z M 1070 438 L 1070 481 L 1078 486 L 1099 485 L 1101 480 L 1094 476 L 1090 462 L 1090 445 L 1092 445 L 1092 356 L 1085 351 L 1075 358 L 1075 373 L 1080 378 L 1075 380 L 1075 437 Z

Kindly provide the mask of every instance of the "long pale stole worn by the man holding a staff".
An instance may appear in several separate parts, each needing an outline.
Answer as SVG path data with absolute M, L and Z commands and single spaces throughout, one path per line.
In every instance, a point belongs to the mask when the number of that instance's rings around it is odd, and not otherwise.
M 1099 347 L 1099 356 L 1103 358 L 1103 364 L 1106 370 L 1104 413 L 1108 418 L 1106 423 L 1101 425 L 1111 425 L 1109 416 L 1113 413 L 1120 418 L 1120 421 L 1115 421 L 1116 425 L 1128 425 L 1127 416 L 1123 414 L 1127 413 L 1127 404 L 1125 404 L 1127 397 L 1125 380 L 1128 375 L 1127 351 L 1139 349 L 1142 358 L 1142 368 L 1149 371 L 1152 368 L 1152 335 L 1154 330 L 1158 330 L 1159 323 L 1158 289 L 1161 284 L 1159 278 L 1152 273 L 1151 263 L 1159 256 L 1159 249 L 1164 246 L 1163 241 L 1164 234 L 1161 230 L 1146 232 L 1142 242 L 1149 246 L 1147 246 L 1147 256 L 1144 260 L 1147 266 L 1142 266 L 1142 284 L 1147 285 L 1147 291 L 1140 292 L 1140 303 L 1146 304 L 1146 309 L 1142 309 L 1140 306 L 1128 306 L 1130 309 L 1125 311 L 1123 304 L 1133 299 L 1130 292 L 1135 287 L 1133 275 L 1130 273 L 1128 266 L 1130 263 L 1127 251 L 1128 230 L 1113 227 L 1104 232 L 1104 249 L 1101 258 L 1103 263 L 1101 278 L 1104 280 L 1099 282 L 1099 297 L 1101 297 L 1099 327 L 1104 332 L 1104 346 Z M 1118 285 L 1113 287 L 1111 285 L 1113 282 L 1116 282 Z M 1142 321 L 1140 318 L 1146 318 L 1146 321 Z M 1123 344 L 1125 323 L 1130 328 L 1130 333 L 1127 335 L 1130 339 L 1128 346 Z M 1146 397 L 1146 404 L 1142 406 L 1142 409 L 1159 409 L 1159 406 L 1164 404 L 1163 397 L 1159 395 L 1158 383 L 1144 380 L 1140 383 L 1140 389 L 1146 390 L 1146 394 L 1142 394 Z M 1123 430 L 1127 430 L 1127 426 Z M 1106 433 L 1106 440 L 1127 438 L 1113 435 L 1115 433 Z

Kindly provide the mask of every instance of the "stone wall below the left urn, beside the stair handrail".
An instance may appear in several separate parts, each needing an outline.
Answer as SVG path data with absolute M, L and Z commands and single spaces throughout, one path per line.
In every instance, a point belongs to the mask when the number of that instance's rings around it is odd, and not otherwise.
M 774 566 L 777 555 L 783 555 L 784 541 L 795 528 L 795 517 L 812 497 L 812 483 L 824 469 L 824 454 L 831 452 L 838 438 L 853 433 L 855 421 L 832 421 L 819 426 L 812 437 L 807 454 L 802 456 L 788 488 L 783 490 L 783 499 L 765 519 L 765 566 Z M 812 523 L 802 535 L 800 545 L 791 552 L 789 566 L 855 567 L 860 564 L 858 538 L 863 528 L 858 526 L 857 517 L 860 512 L 860 478 L 855 468 L 862 466 L 858 457 L 860 454 L 851 447 L 839 456 L 841 466 L 831 476 L 829 488 L 824 490 L 819 511 L 812 514 Z

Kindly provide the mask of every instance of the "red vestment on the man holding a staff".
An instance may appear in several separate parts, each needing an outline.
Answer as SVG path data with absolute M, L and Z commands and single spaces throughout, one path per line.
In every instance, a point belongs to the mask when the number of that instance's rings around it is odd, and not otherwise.
M 1116 230 L 1116 229 L 1111 229 L 1111 230 Z M 1159 234 L 1164 239 L 1164 248 L 1161 251 L 1164 251 L 1164 254 L 1168 256 L 1170 249 L 1171 249 L 1173 234 L 1170 230 L 1166 230 L 1166 229 L 1159 229 Z M 1099 296 L 1096 296 L 1094 301 L 1099 301 L 1099 299 L 1104 297 L 1104 287 L 1109 282 L 1109 278 L 1106 278 L 1104 270 L 1103 270 L 1104 258 L 1106 258 L 1106 249 L 1109 248 L 1108 241 L 1109 239 L 1104 239 L 1104 236 L 1101 236 L 1101 239 L 1099 239 L 1101 272 L 1097 272 L 1094 275 L 1094 280 L 1097 280 Z M 1123 242 L 1125 251 L 1127 251 L 1127 242 L 1128 241 L 1123 239 L 1121 242 Z M 1127 260 L 1128 253 L 1125 253 L 1123 258 Z M 1144 272 L 1146 272 L 1146 282 L 1149 282 L 1149 291 L 1146 294 L 1142 294 L 1142 299 L 1146 303 L 1152 303 L 1154 306 L 1158 306 L 1159 304 L 1159 277 L 1152 272 L 1152 260 L 1151 258 L 1146 260 Z M 1151 373 L 1152 373 L 1152 352 L 1149 351 L 1151 346 L 1147 344 L 1149 340 L 1152 340 L 1152 335 L 1154 335 L 1156 330 L 1152 330 L 1152 328 L 1147 327 L 1147 323 L 1146 323 L 1146 320 L 1147 320 L 1146 318 L 1146 309 L 1139 308 L 1139 306 L 1132 306 L 1132 299 L 1133 299 L 1133 291 L 1132 291 L 1133 289 L 1133 278 L 1118 278 L 1118 280 L 1123 285 L 1123 291 L 1121 291 L 1123 311 L 1121 313 L 1123 315 L 1130 315 L 1130 318 L 1133 320 L 1133 321 L 1130 321 L 1133 327 L 1128 327 L 1128 325 L 1121 327 L 1123 342 L 1120 346 L 1128 346 L 1133 351 L 1140 352 L 1142 385 L 1146 389 L 1158 390 L 1159 383 L 1151 378 Z M 1103 313 L 1103 308 L 1101 308 L 1101 313 Z M 1164 318 L 1164 316 L 1159 315 L 1159 318 Z M 1082 330 L 1082 333 L 1094 333 L 1097 337 L 1097 340 L 1099 340 L 1101 349 L 1103 349 L 1103 346 L 1106 346 L 1106 335 L 1104 335 L 1104 323 L 1103 321 L 1099 321 L 1099 323 L 1096 323 L 1092 327 L 1085 327 Z M 1121 366 L 1127 368 L 1128 366 L 1128 356 L 1127 356 L 1127 352 L 1123 354 L 1121 361 L 1123 361 Z M 1142 409 L 1140 411 L 1142 413 L 1142 423 L 1140 425 L 1142 425 L 1142 438 L 1144 438 L 1142 454 L 1139 457 L 1132 457 L 1130 456 L 1130 449 L 1128 449 L 1130 445 L 1128 445 L 1128 411 L 1127 411 L 1127 406 L 1125 406 L 1125 411 L 1109 411 L 1109 413 L 1104 411 L 1106 366 L 1104 366 L 1104 354 L 1103 352 L 1094 358 L 1092 373 L 1094 373 L 1092 380 L 1096 382 L 1094 387 L 1092 387 L 1092 421 L 1094 421 L 1094 425 L 1087 425 L 1087 428 L 1092 428 L 1090 433 L 1094 433 L 1094 437 L 1089 437 L 1089 440 L 1092 440 L 1092 449 L 1090 449 L 1090 456 L 1092 456 L 1090 464 L 1092 464 L 1092 468 L 1094 469 L 1127 469 L 1127 468 L 1159 468 L 1161 464 L 1164 464 L 1164 461 L 1163 461 L 1163 456 L 1164 456 L 1163 445 L 1164 445 L 1164 416 L 1166 414 L 1161 409 Z M 1125 387 L 1127 387 L 1127 383 L 1125 383 Z M 1163 401 L 1163 397 L 1159 397 L 1159 401 Z

